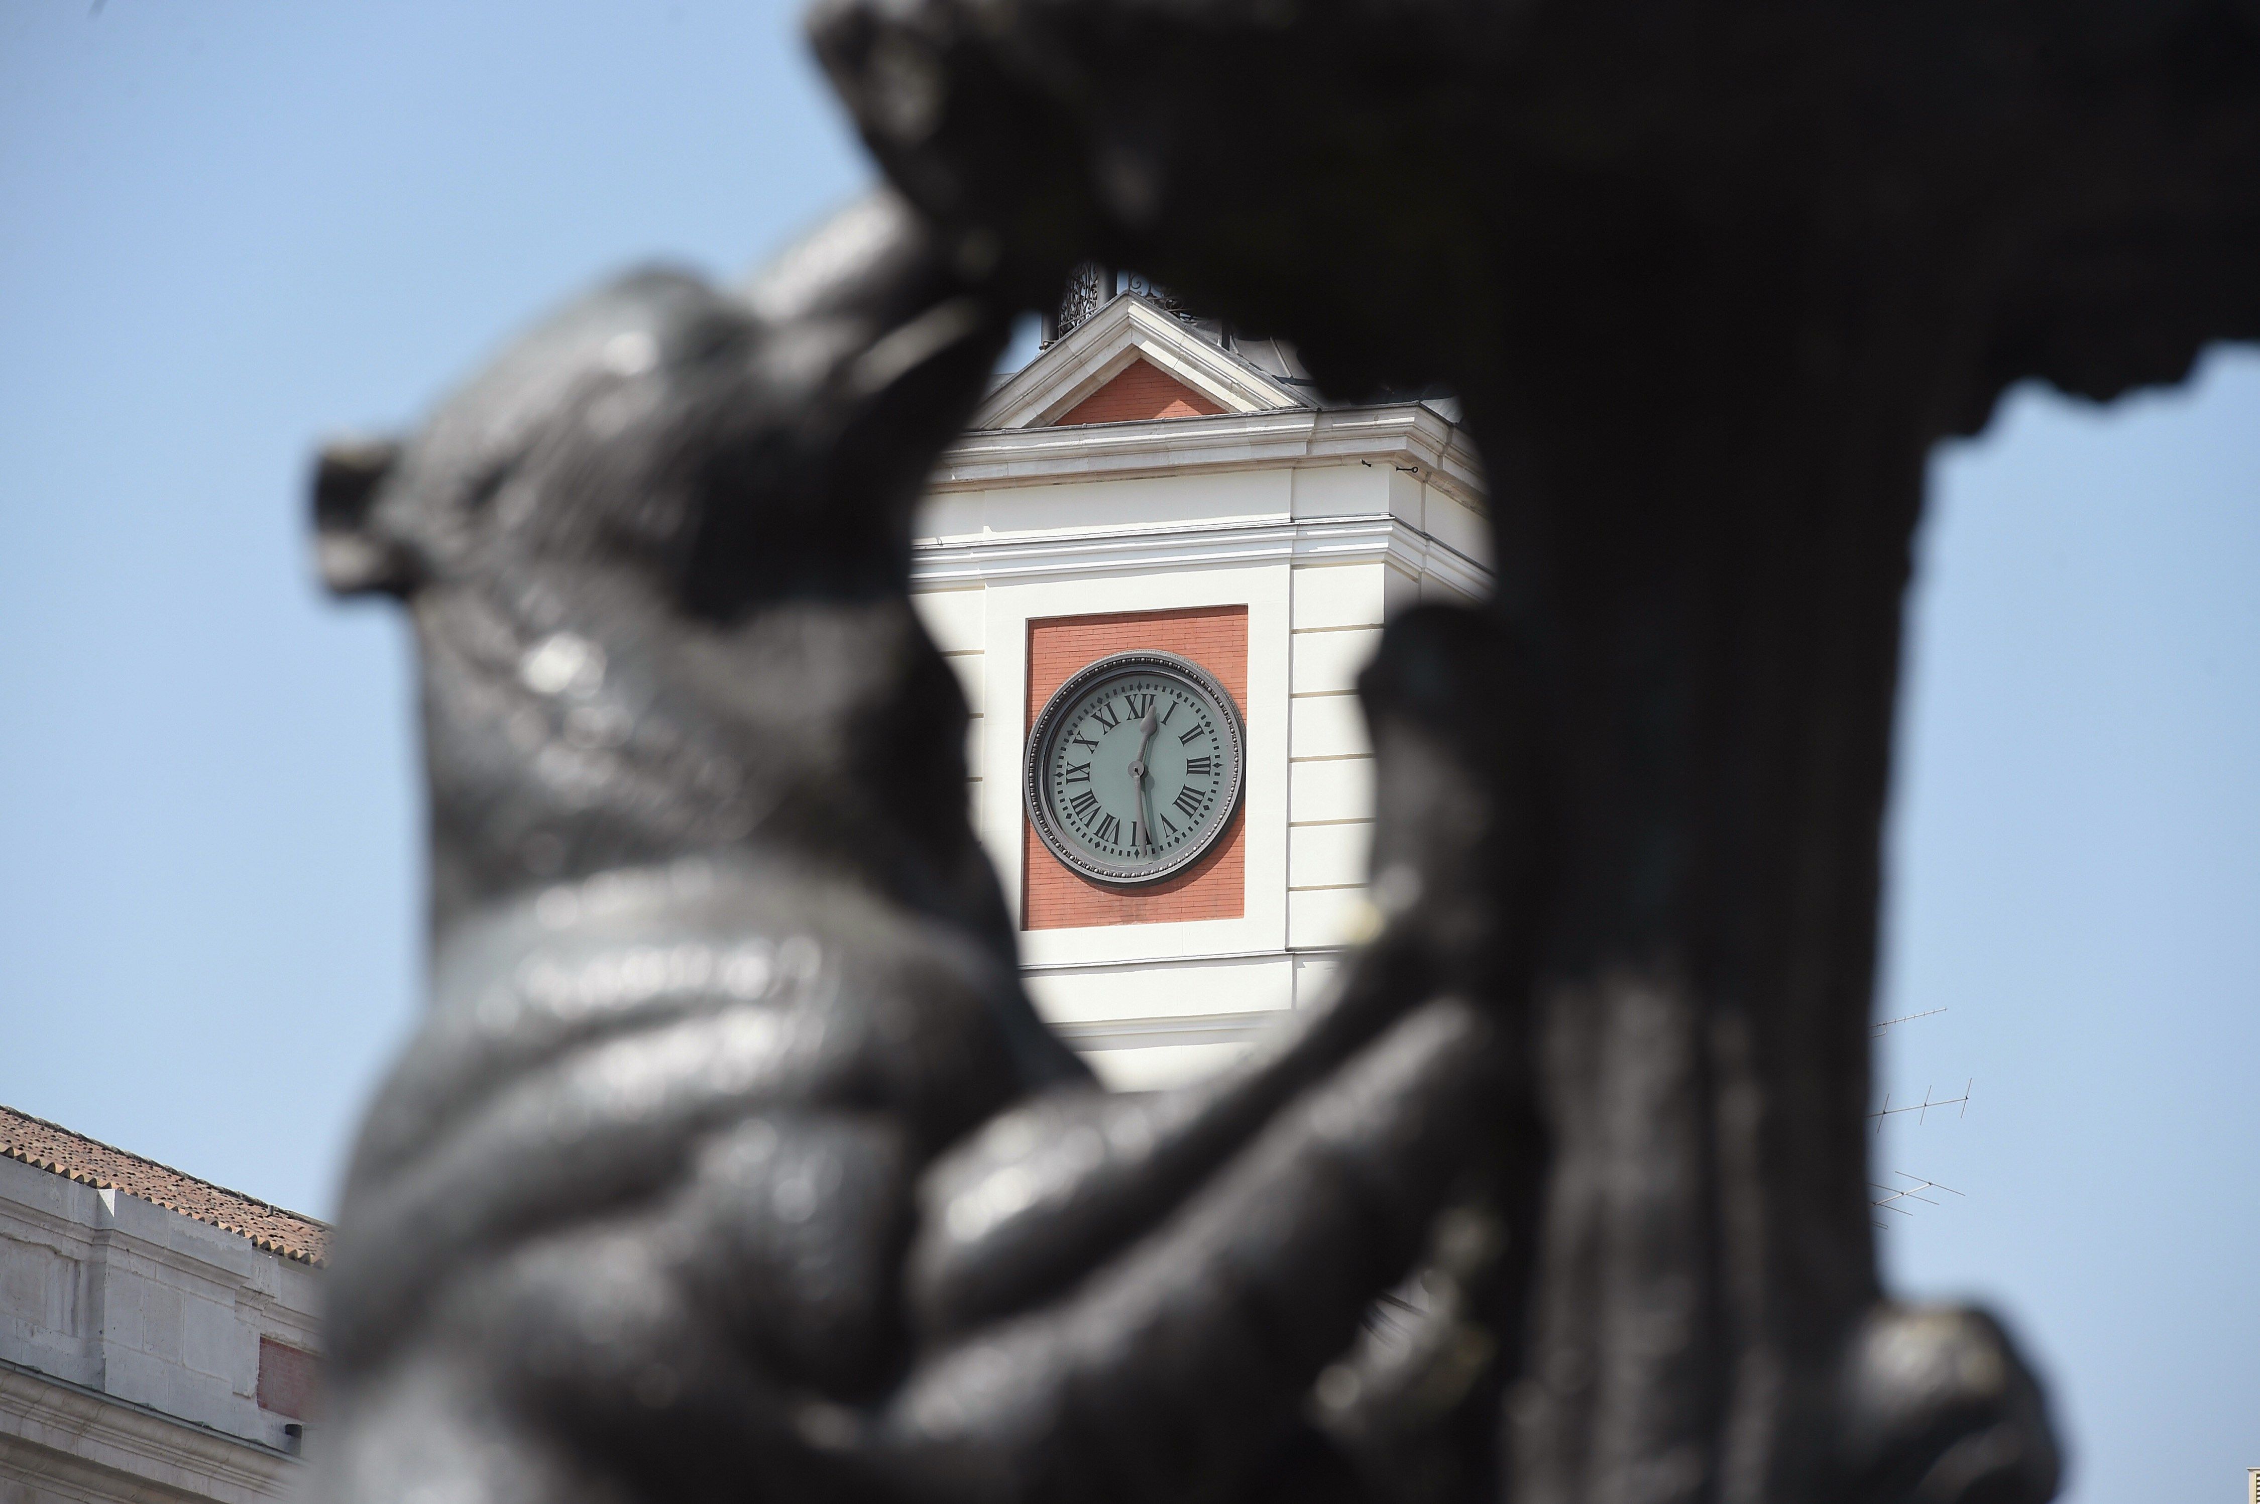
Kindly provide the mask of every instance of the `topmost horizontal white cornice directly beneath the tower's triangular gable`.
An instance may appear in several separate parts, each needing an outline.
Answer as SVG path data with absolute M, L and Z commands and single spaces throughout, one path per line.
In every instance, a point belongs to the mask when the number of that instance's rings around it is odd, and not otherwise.
M 1150 474 L 1354 463 L 1406 467 L 1483 510 L 1483 465 L 1460 427 L 1422 402 L 1155 418 L 1071 429 L 976 429 L 942 449 L 936 495 Z

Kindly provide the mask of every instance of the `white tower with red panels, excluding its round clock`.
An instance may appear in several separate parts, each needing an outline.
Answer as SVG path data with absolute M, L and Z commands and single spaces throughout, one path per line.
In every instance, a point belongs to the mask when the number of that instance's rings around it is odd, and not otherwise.
M 1356 673 L 1392 612 L 1483 598 L 1492 576 L 1449 402 L 1320 406 L 1270 341 L 1139 294 L 1092 303 L 945 452 L 913 592 L 974 709 L 974 822 L 1031 991 L 1110 1084 L 1146 1088 L 1241 1055 L 1358 935 Z M 1198 662 L 1245 720 L 1238 815 L 1141 887 L 1067 867 L 1024 790 L 1053 689 L 1130 650 Z

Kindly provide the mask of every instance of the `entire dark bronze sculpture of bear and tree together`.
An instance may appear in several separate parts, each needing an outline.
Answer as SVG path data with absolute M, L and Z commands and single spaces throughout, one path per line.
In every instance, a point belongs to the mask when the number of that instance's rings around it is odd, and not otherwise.
M 2260 332 L 2260 11 L 816 38 L 893 194 L 744 296 L 594 294 L 316 483 L 330 580 L 416 614 L 436 847 L 330 1497 L 2045 1499 L 2007 1339 L 1887 1303 L 1867 1222 L 1907 542 L 2009 382 Z M 1331 391 L 1451 384 L 1503 562 L 1363 682 L 1381 937 L 1153 1100 L 1019 994 L 904 601 L 929 461 L 1085 255 Z M 1392 1371 L 1358 1314 L 1422 1260 Z

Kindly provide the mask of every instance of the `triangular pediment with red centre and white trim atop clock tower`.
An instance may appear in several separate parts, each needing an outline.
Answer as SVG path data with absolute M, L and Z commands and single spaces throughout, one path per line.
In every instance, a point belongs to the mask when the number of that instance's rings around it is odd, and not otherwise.
M 1168 382 L 1186 393 L 1171 411 Z M 1105 402 L 1137 397 L 1128 402 Z M 1144 411 L 1144 409 L 1153 411 Z M 990 393 L 976 429 L 1044 429 L 1058 422 L 1125 422 L 1205 413 L 1270 413 L 1311 406 L 1286 382 L 1184 327 L 1137 294 L 1123 294 Z M 1076 416 L 1080 409 L 1083 416 Z M 1094 418 L 1094 413 L 1098 413 Z

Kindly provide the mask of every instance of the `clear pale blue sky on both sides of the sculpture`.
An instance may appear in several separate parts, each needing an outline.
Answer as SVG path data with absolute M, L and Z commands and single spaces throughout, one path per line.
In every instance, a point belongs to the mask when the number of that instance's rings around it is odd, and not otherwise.
M 402 628 L 310 583 L 319 434 L 621 264 L 870 178 L 784 5 L 0 7 L 0 1102 L 323 1213 L 418 991 Z M 2260 1463 L 2260 359 L 1944 452 L 1878 1172 L 2052 1378 L 2081 1504 Z

